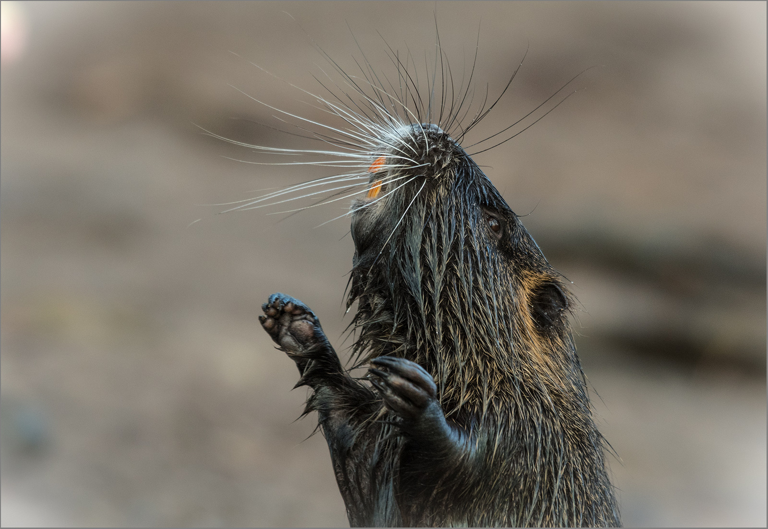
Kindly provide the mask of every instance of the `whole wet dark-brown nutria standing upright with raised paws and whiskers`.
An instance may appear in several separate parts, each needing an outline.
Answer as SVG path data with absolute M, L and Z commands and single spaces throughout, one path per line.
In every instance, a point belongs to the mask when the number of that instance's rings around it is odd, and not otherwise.
M 349 524 L 619 526 L 574 299 L 459 145 L 487 110 L 461 127 L 468 88 L 419 98 L 407 61 L 392 59 L 398 89 L 370 68 L 365 81 L 338 69 L 360 101 L 314 96 L 348 124 L 323 141 L 347 148 L 355 169 L 328 181 L 364 186 L 347 307 L 357 302 L 353 358 L 366 377 L 349 375 L 297 299 L 273 294 L 260 316 L 296 362 L 296 386 L 313 390 L 305 413 L 318 413 Z

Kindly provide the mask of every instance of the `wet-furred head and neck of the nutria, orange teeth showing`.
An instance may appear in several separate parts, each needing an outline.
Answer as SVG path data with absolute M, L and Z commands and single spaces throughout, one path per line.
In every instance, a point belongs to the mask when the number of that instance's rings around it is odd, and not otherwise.
M 447 414 L 582 390 L 562 277 L 474 160 L 434 124 L 375 152 L 352 216 L 359 361 L 424 365 Z

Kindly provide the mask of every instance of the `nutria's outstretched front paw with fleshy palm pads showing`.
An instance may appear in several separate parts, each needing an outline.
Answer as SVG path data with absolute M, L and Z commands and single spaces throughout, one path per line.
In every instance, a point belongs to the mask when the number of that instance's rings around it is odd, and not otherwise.
M 276 293 L 261 308 L 261 326 L 283 351 L 302 354 L 323 342 L 319 320 L 298 299 Z

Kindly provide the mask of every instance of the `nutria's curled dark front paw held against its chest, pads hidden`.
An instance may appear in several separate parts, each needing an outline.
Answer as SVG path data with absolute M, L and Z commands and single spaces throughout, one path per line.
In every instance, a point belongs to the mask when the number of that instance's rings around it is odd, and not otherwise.
M 412 422 L 428 409 L 439 409 L 435 381 L 421 365 L 394 356 L 379 356 L 372 359 L 371 364 L 369 381 L 379 391 L 386 407 L 399 417 Z

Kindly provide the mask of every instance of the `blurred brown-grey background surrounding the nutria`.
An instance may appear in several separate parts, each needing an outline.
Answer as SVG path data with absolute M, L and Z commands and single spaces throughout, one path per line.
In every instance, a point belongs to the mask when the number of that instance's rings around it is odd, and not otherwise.
M 346 205 L 215 215 L 326 171 L 198 126 L 306 147 L 237 89 L 323 120 L 280 81 L 315 45 L 392 74 L 435 16 L 478 94 L 529 49 L 475 140 L 601 65 L 475 160 L 574 283 L 624 524 L 765 526 L 764 2 L 2 2 L 3 525 L 347 524 L 257 322 L 291 293 L 346 352 Z

